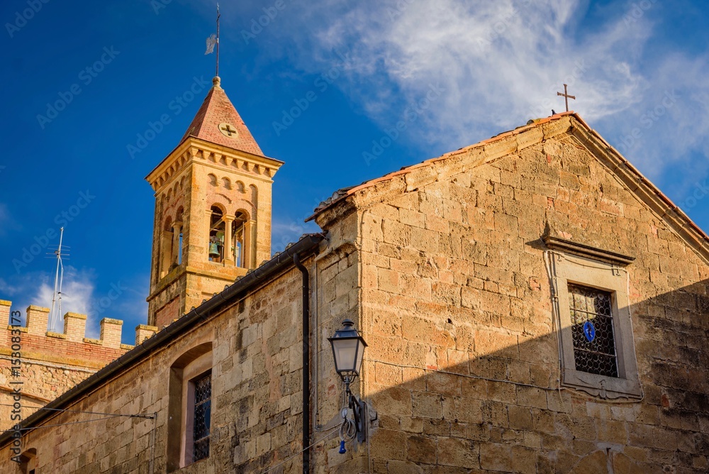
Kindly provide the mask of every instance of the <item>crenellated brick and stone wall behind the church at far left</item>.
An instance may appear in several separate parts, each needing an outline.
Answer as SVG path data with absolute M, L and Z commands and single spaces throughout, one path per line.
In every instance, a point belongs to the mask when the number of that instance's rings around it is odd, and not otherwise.
M 66 313 L 62 333 L 47 331 L 49 312 L 30 305 L 26 326 L 13 327 L 11 302 L 0 299 L 0 321 L 8 323 L 0 329 L 0 429 L 13 424 L 8 406 L 14 402 L 13 389 L 21 390 L 22 417 L 26 418 L 133 348 L 121 343 L 123 321 L 101 319 L 101 336 L 94 339 L 85 337 L 85 314 Z M 142 343 L 155 331 L 141 324 L 135 329 L 135 342 Z M 16 365 L 11 365 L 16 358 L 20 360 L 18 376 L 12 373 Z

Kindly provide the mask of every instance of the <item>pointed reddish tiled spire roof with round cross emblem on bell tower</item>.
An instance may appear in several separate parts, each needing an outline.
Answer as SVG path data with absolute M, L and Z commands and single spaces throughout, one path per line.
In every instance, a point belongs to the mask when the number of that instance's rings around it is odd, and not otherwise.
M 264 156 L 251 132 L 241 119 L 233 104 L 226 97 L 220 86 L 219 77 L 212 79 L 214 84 L 202 102 L 196 116 L 189 124 L 182 140 L 193 136 L 211 143 L 228 146 L 237 150 Z M 223 129 L 224 132 L 220 129 Z

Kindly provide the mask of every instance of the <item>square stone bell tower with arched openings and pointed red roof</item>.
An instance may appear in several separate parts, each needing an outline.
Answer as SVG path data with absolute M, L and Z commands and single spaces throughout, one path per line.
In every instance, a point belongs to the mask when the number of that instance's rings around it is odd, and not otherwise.
M 148 324 L 162 327 L 271 258 L 267 158 L 212 80 L 177 148 L 145 180 L 155 191 Z

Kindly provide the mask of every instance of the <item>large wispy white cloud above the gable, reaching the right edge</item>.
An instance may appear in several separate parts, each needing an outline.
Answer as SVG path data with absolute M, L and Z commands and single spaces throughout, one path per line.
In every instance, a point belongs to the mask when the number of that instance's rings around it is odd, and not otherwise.
M 635 127 L 645 131 L 627 154 L 650 177 L 661 181 L 676 166 L 706 172 L 696 154 L 709 151 L 707 57 L 687 57 L 670 43 L 650 47 L 663 41 L 656 23 L 671 6 L 648 5 L 294 0 L 269 29 L 279 47 L 264 43 L 304 73 L 350 55 L 335 86 L 383 129 L 439 84 L 445 92 L 408 123 L 408 139 L 427 150 L 454 150 L 563 111 L 556 92 L 565 82 L 577 97 L 570 108 L 614 145 Z M 676 109 L 642 128 L 642 114 L 672 88 L 683 91 Z

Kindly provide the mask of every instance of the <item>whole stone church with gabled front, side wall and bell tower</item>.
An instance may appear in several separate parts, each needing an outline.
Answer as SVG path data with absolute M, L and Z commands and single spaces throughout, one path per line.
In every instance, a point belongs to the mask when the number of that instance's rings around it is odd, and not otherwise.
M 709 237 L 579 116 L 341 189 L 259 265 L 281 162 L 222 94 L 148 176 L 157 333 L 23 421 L 21 463 L 0 436 L 2 472 L 709 470 Z M 341 454 L 343 319 L 369 410 Z

